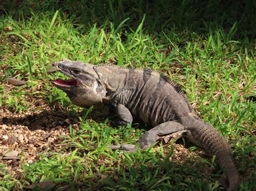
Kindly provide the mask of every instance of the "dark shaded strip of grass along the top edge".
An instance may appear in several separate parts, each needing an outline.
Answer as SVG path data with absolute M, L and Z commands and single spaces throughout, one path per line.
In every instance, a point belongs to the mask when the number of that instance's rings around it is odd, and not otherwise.
M 256 3 L 249 1 L 4 1 L 0 13 L 15 19 L 51 14 L 59 10 L 80 32 L 93 24 L 104 26 L 112 22 L 118 26 L 123 20 L 126 27 L 136 30 L 144 15 L 143 28 L 149 33 L 174 31 L 189 38 L 211 35 L 215 30 L 230 31 L 232 40 L 253 41 L 256 34 Z

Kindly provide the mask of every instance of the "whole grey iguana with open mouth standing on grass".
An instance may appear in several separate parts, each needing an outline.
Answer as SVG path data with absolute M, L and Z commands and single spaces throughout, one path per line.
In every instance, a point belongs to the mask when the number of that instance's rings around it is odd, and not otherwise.
M 142 150 L 161 137 L 187 137 L 216 156 L 229 182 L 227 190 L 238 190 L 239 174 L 224 137 L 196 115 L 186 95 L 168 77 L 149 68 L 96 66 L 70 60 L 58 61 L 53 65 L 72 78 L 57 79 L 52 83 L 64 90 L 73 104 L 80 107 L 106 104 L 116 112 L 118 119 L 114 121 L 115 125 L 126 125 L 136 118 L 149 124 L 153 128 L 137 142 Z M 118 148 L 137 150 L 132 144 Z

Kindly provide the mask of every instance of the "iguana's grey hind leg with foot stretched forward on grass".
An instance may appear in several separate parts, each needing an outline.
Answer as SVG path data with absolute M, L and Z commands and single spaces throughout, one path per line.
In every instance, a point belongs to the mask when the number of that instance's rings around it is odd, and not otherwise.
M 150 145 L 155 143 L 161 137 L 165 137 L 165 136 L 181 137 L 185 132 L 186 130 L 184 126 L 182 126 L 178 122 L 174 122 L 174 121 L 165 122 L 145 132 L 144 135 L 139 138 L 137 144 L 139 145 L 139 148 L 143 150 L 145 148 L 149 148 Z M 123 144 L 119 146 L 116 145 L 111 148 L 113 149 L 120 148 L 121 150 L 128 151 L 128 152 L 137 151 L 136 146 L 133 144 Z

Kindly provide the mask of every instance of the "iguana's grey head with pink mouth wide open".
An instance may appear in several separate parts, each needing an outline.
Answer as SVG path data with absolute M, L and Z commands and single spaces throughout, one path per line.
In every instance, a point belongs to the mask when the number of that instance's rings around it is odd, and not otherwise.
M 65 91 L 71 102 L 80 107 L 102 102 L 106 89 L 100 81 L 93 65 L 79 61 L 63 60 L 53 63 L 57 69 L 71 77 L 70 80 L 57 79 L 52 83 Z

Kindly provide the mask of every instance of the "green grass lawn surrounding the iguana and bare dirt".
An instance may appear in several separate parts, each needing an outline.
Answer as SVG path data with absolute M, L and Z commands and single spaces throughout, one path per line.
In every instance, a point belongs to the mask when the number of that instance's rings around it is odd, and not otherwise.
M 253 1 L 5 2 L 0 17 L 0 105 L 28 111 L 26 98 L 32 96 L 60 102 L 79 116 L 81 109 L 48 83 L 63 77 L 46 72 L 62 58 L 154 68 L 181 84 L 200 117 L 230 141 L 242 178 L 240 189 L 253 190 L 255 6 Z M 8 90 L 3 83 L 8 77 L 27 83 Z M 50 179 L 73 190 L 221 189 L 217 179 L 222 173 L 213 160 L 192 155 L 181 164 L 170 161 L 173 143 L 137 153 L 111 151 L 105 146 L 134 143 L 143 130 L 112 128 L 107 116 L 102 123 L 86 115 L 79 118 L 79 128 L 70 125 L 70 135 L 63 137 L 68 146 L 51 157 L 41 155 L 32 165 L 21 161 L 19 179 L 2 171 L 0 188 L 21 189 Z M 205 166 L 214 173 L 203 176 Z

